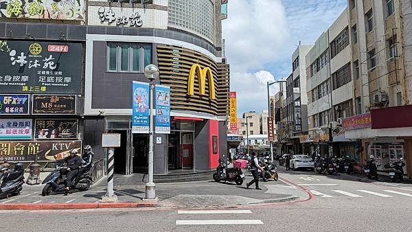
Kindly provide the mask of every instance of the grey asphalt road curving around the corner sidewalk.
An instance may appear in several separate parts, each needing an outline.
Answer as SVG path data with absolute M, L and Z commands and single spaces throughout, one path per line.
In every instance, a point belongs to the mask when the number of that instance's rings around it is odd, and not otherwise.
M 301 202 L 218 211 L 93 209 L 0 211 L 1 231 L 412 231 L 412 185 L 285 172 Z M 349 178 L 349 180 L 348 180 Z M 285 184 L 286 185 L 286 184 Z M 296 187 L 299 186 L 299 187 Z M 288 187 L 278 186 L 286 189 Z M 271 187 L 268 188 L 269 190 Z M 255 190 L 252 190 L 255 191 Z M 306 197 L 304 195 L 306 194 Z

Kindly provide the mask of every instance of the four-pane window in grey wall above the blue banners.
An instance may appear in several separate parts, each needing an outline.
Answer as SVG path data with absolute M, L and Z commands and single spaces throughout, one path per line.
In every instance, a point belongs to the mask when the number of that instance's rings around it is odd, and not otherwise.
M 152 45 L 139 43 L 108 43 L 107 71 L 139 73 L 152 63 Z

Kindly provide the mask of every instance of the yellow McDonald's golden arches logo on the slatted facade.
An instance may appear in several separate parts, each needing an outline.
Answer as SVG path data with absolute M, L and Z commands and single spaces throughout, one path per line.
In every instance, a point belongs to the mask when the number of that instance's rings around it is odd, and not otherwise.
M 214 89 L 213 73 L 209 67 L 202 69 L 201 65 L 194 64 L 190 69 L 189 80 L 187 81 L 187 95 L 194 95 L 194 76 L 198 76 L 199 81 L 199 93 L 205 95 L 206 88 L 206 76 L 209 80 L 209 97 L 210 99 L 216 99 Z

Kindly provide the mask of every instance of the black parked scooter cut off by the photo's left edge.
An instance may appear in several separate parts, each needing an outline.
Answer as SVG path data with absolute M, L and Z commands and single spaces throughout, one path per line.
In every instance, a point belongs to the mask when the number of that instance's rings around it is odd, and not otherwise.
M 22 163 L 13 163 L 14 170 L 9 170 L 6 165 L 0 165 L 0 198 L 10 195 L 19 195 L 21 185 L 24 183 L 24 170 Z

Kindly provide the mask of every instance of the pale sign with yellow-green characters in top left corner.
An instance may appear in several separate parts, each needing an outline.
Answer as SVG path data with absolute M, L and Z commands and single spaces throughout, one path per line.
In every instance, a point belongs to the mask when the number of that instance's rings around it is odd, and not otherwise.
M 85 1 L 0 0 L 1 18 L 84 20 Z

